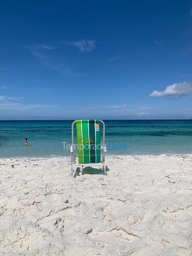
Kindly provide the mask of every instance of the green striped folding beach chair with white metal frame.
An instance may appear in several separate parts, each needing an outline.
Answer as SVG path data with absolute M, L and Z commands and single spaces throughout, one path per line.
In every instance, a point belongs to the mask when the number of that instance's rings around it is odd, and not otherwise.
M 74 123 L 76 123 L 78 142 L 78 162 L 74 154 Z M 103 143 L 101 144 L 100 123 L 103 124 Z M 102 150 L 102 156 L 101 156 Z M 102 120 L 76 120 L 72 123 L 71 177 L 74 165 L 101 165 L 106 175 L 105 165 L 105 123 Z

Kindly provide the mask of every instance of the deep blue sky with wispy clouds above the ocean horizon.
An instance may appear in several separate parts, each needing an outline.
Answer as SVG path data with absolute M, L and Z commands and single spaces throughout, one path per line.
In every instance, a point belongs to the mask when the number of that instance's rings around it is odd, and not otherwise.
M 191 1 L 2 1 L 0 119 L 192 118 Z

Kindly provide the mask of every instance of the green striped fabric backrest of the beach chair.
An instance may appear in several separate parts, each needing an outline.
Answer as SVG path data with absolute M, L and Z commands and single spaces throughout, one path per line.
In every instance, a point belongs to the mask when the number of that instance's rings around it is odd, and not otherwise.
M 76 120 L 79 164 L 101 162 L 100 120 Z

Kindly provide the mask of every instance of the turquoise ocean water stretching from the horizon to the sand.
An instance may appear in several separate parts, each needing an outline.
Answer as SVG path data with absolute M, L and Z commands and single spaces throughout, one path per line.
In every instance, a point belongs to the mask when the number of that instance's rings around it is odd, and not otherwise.
M 71 143 L 72 122 L 0 121 L 0 158 L 69 156 L 62 142 Z M 192 153 L 192 120 L 107 120 L 105 124 L 108 154 Z M 126 150 L 119 144 L 126 144 Z

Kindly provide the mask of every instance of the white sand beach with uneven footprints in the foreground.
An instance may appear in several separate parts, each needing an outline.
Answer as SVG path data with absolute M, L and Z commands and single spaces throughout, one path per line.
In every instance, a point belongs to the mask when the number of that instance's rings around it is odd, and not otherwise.
M 0 255 L 192 255 L 192 155 L 106 163 L 0 159 Z

